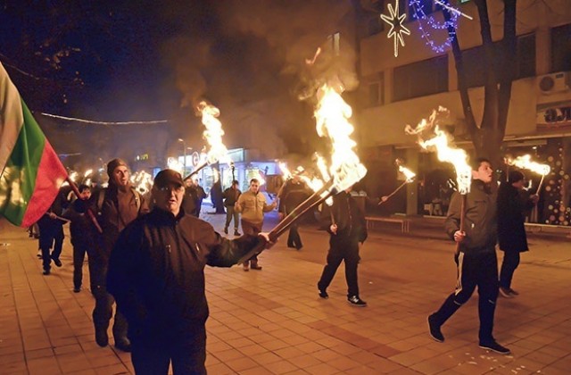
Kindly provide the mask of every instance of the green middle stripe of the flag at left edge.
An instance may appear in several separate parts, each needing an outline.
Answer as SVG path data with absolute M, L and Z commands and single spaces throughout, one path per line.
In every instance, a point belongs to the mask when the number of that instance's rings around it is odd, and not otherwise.
M 36 187 L 39 162 L 44 152 L 46 137 L 21 101 L 24 125 L 20 130 L 12 154 L 0 178 L 0 213 L 12 223 L 20 225 Z

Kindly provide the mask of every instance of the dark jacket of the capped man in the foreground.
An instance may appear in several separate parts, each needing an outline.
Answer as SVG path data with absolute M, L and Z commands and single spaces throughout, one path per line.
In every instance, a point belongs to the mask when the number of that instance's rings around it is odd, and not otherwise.
M 259 237 L 221 237 L 182 210 L 155 208 L 133 221 L 115 244 L 107 288 L 128 320 L 129 337 L 170 337 L 204 324 L 204 266 L 230 267 Z

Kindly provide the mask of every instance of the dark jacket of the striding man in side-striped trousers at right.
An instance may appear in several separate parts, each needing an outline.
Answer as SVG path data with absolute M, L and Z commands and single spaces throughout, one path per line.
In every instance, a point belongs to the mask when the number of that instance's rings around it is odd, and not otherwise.
M 496 192 L 492 186 L 484 184 L 480 179 L 472 180 L 467 196 L 464 231 L 466 238 L 460 243 L 465 253 L 494 251 L 497 240 Z M 454 192 L 451 198 L 448 215 L 444 221 L 446 233 L 454 239 L 454 232 L 460 228 L 460 210 L 462 196 Z

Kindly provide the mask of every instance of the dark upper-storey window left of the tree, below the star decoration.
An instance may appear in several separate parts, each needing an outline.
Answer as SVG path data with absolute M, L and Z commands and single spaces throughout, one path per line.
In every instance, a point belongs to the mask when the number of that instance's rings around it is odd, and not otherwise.
M 448 55 L 394 69 L 395 102 L 448 91 Z

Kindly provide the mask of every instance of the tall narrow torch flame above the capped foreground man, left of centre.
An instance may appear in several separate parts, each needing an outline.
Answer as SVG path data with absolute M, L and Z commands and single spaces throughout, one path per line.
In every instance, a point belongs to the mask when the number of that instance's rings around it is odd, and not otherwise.
M 208 163 L 229 163 L 230 158 L 228 156 L 228 148 L 226 148 L 222 142 L 224 130 L 222 129 L 222 123 L 218 120 L 220 115 L 219 109 L 214 105 L 207 104 L 206 102 L 200 102 L 200 104 L 198 104 L 198 111 L 203 116 L 203 124 L 204 127 L 206 127 L 203 133 L 203 137 L 211 146 L 211 149 L 207 153 Z

